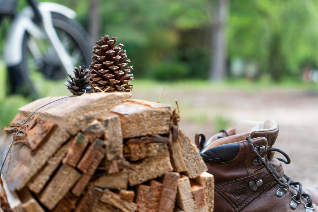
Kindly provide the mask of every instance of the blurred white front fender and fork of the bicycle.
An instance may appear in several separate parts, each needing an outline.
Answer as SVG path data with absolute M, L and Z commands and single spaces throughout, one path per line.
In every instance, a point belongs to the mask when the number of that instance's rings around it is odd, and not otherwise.
M 63 47 L 52 24 L 52 12 L 59 13 L 69 19 L 76 17 L 76 12 L 66 6 L 52 2 L 42 2 L 38 4 L 38 9 L 42 16 L 41 26 L 32 21 L 34 12 L 31 7 L 21 10 L 12 21 L 4 46 L 4 61 L 7 67 L 20 64 L 23 57 L 23 38 L 25 32 L 34 38 L 47 38 L 56 51 L 57 56 L 67 73 L 73 73 L 73 64 L 69 54 Z

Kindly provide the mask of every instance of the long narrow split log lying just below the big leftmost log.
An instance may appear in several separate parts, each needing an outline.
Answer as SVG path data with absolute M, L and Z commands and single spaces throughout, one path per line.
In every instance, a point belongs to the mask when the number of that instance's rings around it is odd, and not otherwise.
M 55 169 L 58 168 L 70 144 L 71 141 L 64 144 L 52 157 L 50 157 L 45 167 L 31 179 L 31 181 L 28 183 L 28 187 L 31 191 L 38 194 L 44 188 Z

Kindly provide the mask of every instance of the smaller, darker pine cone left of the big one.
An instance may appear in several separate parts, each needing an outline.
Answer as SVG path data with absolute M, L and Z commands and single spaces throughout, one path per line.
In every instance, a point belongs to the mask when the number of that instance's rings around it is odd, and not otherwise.
M 70 80 L 67 80 L 64 85 L 66 85 L 67 89 L 72 92 L 72 94 L 84 94 L 91 92 L 91 87 L 89 86 L 88 80 L 87 80 L 87 73 L 88 69 L 85 69 L 85 66 L 79 66 L 79 69 L 77 67 L 74 67 L 74 75 L 75 77 L 72 77 L 71 74 L 68 74 L 68 76 L 71 78 Z

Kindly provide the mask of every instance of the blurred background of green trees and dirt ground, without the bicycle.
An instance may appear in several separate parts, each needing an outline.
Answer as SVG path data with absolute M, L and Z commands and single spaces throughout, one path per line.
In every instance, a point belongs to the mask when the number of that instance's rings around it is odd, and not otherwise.
M 134 66 L 134 98 L 156 102 L 168 88 L 160 102 L 175 106 L 178 99 L 180 125 L 191 139 L 271 117 L 280 126 L 276 148 L 292 159 L 286 173 L 318 185 L 318 167 L 308 163 L 318 148 L 317 1 L 52 2 L 75 10 L 93 41 L 118 37 Z M 17 8 L 26 5 L 21 0 Z M 0 51 L 9 26 L 3 20 Z M 7 75 L 0 57 L 1 129 L 34 98 L 9 95 Z M 65 80 L 38 80 L 40 96 L 70 95 Z

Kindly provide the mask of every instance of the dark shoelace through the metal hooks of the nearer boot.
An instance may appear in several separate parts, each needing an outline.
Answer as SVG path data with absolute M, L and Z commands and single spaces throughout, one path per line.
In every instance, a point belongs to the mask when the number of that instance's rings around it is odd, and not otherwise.
M 267 163 L 265 162 L 265 160 L 263 160 L 262 156 L 259 155 L 259 153 L 256 151 L 255 147 L 253 146 L 252 144 L 252 139 L 251 137 L 246 137 L 246 140 L 249 142 L 250 144 L 250 147 L 252 149 L 252 151 L 254 152 L 254 154 L 258 157 L 259 159 L 259 162 L 261 162 L 265 168 L 267 169 L 267 171 L 269 172 L 269 174 L 274 178 L 274 180 L 276 182 L 278 182 L 278 184 L 280 184 L 280 186 L 284 187 L 284 188 L 289 188 L 290 185 L 292 186 L 298 186 L 298 191 L 297 191 L 297 195 L 295 197 L 295 200 L 297 200 L 298 202 L 301 201 L 301 196 L 303 196 L 304 198 L 306 198 L 308 200 L 308 203 L 306 204 L 307 207 L 311 208 L 312 207 L 312 198 L 309 194 L 305 193 L 304 191 L 302 191 L 302 185 L 300 182 L 294 182 L 290 179 L 290 177 L 287 177 L 286 175 L 284 175 L 284 177 L 286 178 L 287 180 L 287 183 L 286 182 L 281 182 L 277 177 L 276 175 L 274 174 L 274 172 L 272 171 L 272 169 L 267 165 Z M 282 154 L 283 156 L 285 156 L 285 158 L 287 159 L 284 160 L 282 158 L 277 158 L 277 160 L 279 161 L 282 161 L 286 164 L 289 164 L 290 163 L 290 158 L 289 156 L 282 150 L 280 149 L 276 149 L 276 148 L 270 148 L 270 149 L 267 149 L 266 153 L 269 152 L 269 151 L 275 151 L 275 152 L 279 152 L 280 154 Z

